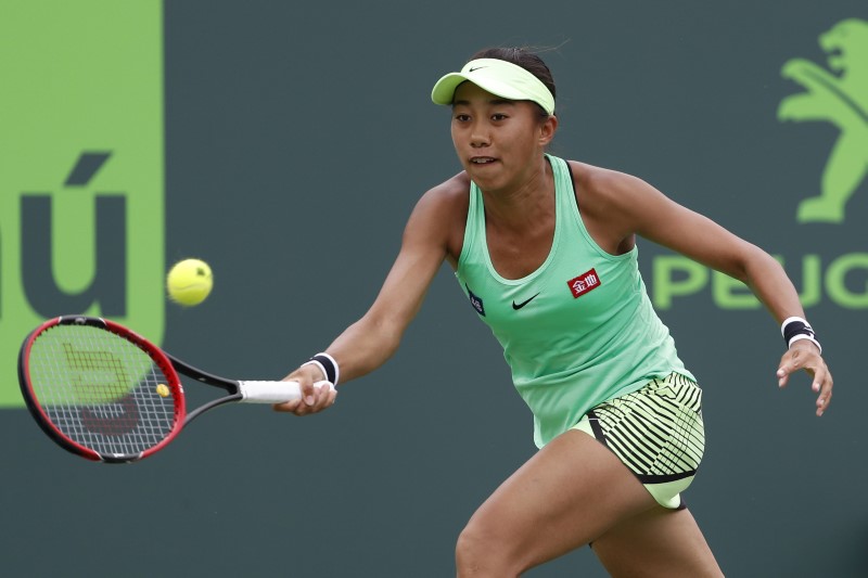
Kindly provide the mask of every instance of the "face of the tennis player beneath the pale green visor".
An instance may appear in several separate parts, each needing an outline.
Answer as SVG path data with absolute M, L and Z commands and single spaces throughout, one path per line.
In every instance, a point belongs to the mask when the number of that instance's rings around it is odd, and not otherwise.
M 472 82 L 456 89 L 452 143 L 470 178 L 484 191 L 519 187 L 544 166 L 558 121 L 528 101 L 509 101 Z

